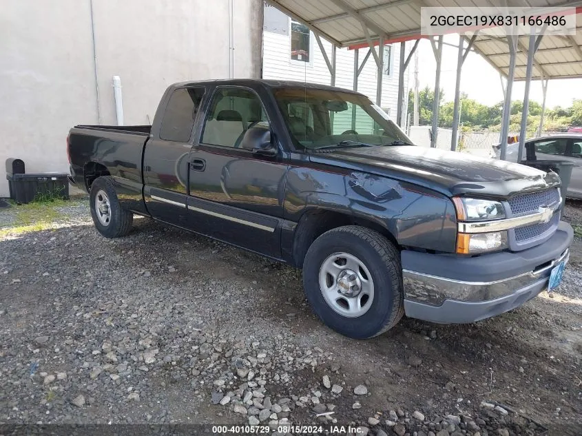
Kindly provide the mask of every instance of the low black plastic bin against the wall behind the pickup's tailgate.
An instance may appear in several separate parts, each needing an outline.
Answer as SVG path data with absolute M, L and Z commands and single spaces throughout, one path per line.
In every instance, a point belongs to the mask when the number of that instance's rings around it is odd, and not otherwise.
M 6 174 L 10 198 L 17 203 L 30 203 L 35 198 L 69 198 L 66 173 Z

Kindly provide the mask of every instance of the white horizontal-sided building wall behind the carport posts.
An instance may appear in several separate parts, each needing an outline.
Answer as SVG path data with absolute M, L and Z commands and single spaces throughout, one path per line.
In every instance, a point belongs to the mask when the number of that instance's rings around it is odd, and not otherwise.
M 264 8 L 273 8 L 264 6 Z M 282 12 L 265 12 L 265 20 L 268 14 Z M 272 32 L 269 23 L 265 22 L 263 27 L 263 79 L 282 79 L 291 81 L 306 81 L 311 83 L 321 83 L 329 85 L 331 74 L 327 68 L 324 56 L 319 48 L 313 32 L 310 34 L 310 62 L 295 61 L 291 59 L 291 19 L 287 17 L 289 30 L 287 34 L 282 32 Z M 322 39 L 323 46 L 331 61 L 331 43 Z M 360 49 L 360 64 L 364 60 L 368 48 Z M 392 71 L 389 76 L 384 75 L 382 80 L 382 107 L 389 110 L 391 118 L 396 119 L 397 99 L 398 99 L 398 74 L 400 44 L 393 44 L 391 51 Z M 335 85 L 353 90 L 353 60 L 354 50 L 341 48 L 336 50 L 336 74 Z M 405 96 L 408 94 L 408 74 L 404 75 Z M 377 68 L 373 55 L 370 55 L 364 69 L 360 73 L 357 91 L 365 94 L 373 102 L 376 101 L 377 89 Z

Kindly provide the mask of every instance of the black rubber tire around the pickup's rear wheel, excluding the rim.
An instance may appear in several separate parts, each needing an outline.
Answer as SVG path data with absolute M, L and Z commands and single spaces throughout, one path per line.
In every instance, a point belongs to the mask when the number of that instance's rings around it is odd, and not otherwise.
M 102 216 L 102 214 L 96 210 L 96 198 L 101 192 L 104 192 L 107 195 L 110 204 L 109 218 L 106 224 L 101 222 L 98 218 L 98 214 L 100 216 Z M 95 179 L 91 185 L 89 202 L 94 225 L 99 233 L 105 236 L 105 238 L 121 238 L 122 236 L 127 236 L 129 231 L 131 231 L 134 222 L 134 214 L 121 208 L 113 184 L 113 179 L 110 176 L 103 176 Z

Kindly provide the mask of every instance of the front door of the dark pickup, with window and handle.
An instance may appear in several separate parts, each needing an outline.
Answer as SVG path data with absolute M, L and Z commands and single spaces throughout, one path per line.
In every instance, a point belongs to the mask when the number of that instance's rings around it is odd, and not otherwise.
M 260 96 L 247 87 L 217 87 L 190 154 L 191 228 L 280 258 L 287 159 L 280 149 L 266 156 L 245 148 L 250 127 L 271 130 Z

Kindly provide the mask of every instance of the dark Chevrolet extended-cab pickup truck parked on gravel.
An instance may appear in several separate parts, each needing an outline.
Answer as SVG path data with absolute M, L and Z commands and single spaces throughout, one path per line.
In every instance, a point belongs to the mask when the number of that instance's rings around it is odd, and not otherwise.
M 103 236 L 139 214 L 302 268 L 352 338 L 519 307 L 557 287 L 573 237 L 557 174 L 415 147 L 336 87 L 178 83 L 151 128 L 78 125 L 67 149 Z

